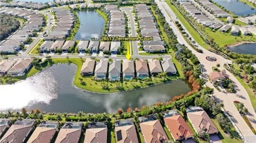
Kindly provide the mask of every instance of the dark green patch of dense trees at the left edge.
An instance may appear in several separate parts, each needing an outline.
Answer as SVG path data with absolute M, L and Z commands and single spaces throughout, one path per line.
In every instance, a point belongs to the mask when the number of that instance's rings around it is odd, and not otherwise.
M 20 22 L 15 18 L 0 14 L 0 40 L 4 40 L 20 27 Z

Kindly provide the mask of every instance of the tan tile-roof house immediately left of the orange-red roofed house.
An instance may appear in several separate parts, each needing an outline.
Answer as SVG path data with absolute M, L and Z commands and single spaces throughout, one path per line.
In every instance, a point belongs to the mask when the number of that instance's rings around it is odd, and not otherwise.
M 169 140 L 158 119 L 140 123 L 140 129 L 145 142 L 161 143 Z

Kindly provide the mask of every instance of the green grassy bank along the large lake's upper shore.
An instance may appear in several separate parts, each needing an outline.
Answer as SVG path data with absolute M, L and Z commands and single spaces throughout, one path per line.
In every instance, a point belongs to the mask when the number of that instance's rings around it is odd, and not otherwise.
M 15 82 L 18 82 L 20 80 L 25 80 L 26 78 L 29 78 L 30 76 L 33 76 L 41 71 L 43 71 L 43 69 L 46 69 L 47 67 L 51 66 L 51 65 L 55 65 L 55 64 L 59 64 L 59 63 L 73 63 L 74 65 L 77 66 L 77 71 L 75 72 L 75 77 L 74 77 L 74 85 L 76 87 L 79 87 L 80 89 L 83 89 L 85 91 L 89 91 L 89 92 L 93 92 L 93 93 L 117 93 L 120 91 L 131 91 L 131 90 L 135 90 L 135 89 L 140 89 L 140 88 L 145 88 L 145 87 L 150 87 L 153 85 L 158 85 L 158 84 L 163 84 L 165 82 L 169 82 L 169 81 L 173 81 L 173 80 L 179 80 L 182 79 L 181 76 L 168 76 L 167 80 L 164 78 L 158 78 L 158 77 L 152 77 L 152 81 L 146 82 L 146 81 L 137 81 L 137 80 L 133 80 L 133 81 L 128 81 L 128 80 L 123 80 L 120 82 L 106 82 L 106 81 L 96 81 L 94 80 L 94 76 L 81 76 L 80 71 L 81 71 L 81 67 L 83 65 L 83 62 L 85 61 L 85 59 L 80 59 L 80 58 L 53 58 L 53 62 L 52 63 L 44 63 L 43 65 L 41 65 L 41 67 L 31 67 L 30 70 L 24 74 L 24 76 L 18 76 L 18 77 L 14 77 L 12 78 Z M 1 78 L 2 80 L 3 77 Z M 83 81 L 83 84 L 81 81 Z M 3 84 L 6 84 L 5 81 L 3 82 Z M 108 85 L 109 89 L 108 90 L 104 90 L 102 89 L 102 85 Z M 120 90 L 120 88 L 118 87 L 122 87 L 122 89 Z

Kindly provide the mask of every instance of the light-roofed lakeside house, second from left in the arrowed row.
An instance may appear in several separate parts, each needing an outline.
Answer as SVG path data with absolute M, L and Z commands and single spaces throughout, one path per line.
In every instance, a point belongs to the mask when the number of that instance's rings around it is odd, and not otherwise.
M 95 80 L 105 80 L 108 72 L 108 60 L 101 59 L 96 62 Z

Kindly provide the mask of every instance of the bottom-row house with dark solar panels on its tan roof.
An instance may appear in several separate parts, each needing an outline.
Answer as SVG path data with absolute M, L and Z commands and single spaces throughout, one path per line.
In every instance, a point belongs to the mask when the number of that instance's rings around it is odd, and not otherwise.
M 116 142 L 139 142 L 133 119 L 118 120 L 115 123 Z

